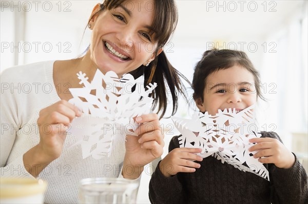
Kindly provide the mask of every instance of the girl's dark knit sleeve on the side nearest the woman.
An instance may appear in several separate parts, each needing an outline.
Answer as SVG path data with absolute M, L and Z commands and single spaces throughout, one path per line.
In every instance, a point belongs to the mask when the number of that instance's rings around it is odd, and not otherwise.
M 173 137 L 169 143 L 169 152 L 179 147 L 179 136 Z M 151 203 L 184 203 L 183 186 L 179 180 L 179 174 L 166 177 L 160 168 L 153 172 L 149 184 L 149 199 Z

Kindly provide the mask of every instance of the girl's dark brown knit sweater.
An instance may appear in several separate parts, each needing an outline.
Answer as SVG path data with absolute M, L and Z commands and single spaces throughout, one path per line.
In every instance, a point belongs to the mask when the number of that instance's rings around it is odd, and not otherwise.
M 280 138 L 275 132 L 262 132 L 262 137 Z M 179 147 L 179 136 L 172 138 L 169 152 Z M 213 156 L 203 158 L 194 173 L 177 173 L 165 177 L 156 168 L 149 184 L 151 203 L 308 203 L 307 174 L 296 162 L 290 169 L 264 164 L 266 179 L 240 171 Z

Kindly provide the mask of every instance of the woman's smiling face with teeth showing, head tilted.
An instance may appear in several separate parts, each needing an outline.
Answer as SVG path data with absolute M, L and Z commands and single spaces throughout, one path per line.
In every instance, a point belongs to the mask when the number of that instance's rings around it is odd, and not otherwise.
M 122 76 L 155 58 L 157 42 L 153 41 L 155 34 L 149 34 L 154 5 L 154 1 L 125 1 L 90 20 L 91 60 L 103 73 L 114 71 Z M 99 8 L 95 6 L 92 14 Z

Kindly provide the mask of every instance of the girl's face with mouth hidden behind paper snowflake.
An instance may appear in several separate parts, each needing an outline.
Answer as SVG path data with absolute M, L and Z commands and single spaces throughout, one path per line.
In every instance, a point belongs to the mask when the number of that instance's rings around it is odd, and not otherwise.
M 203 101 L 196 99 L 201 112 L 210 115 L 218 113 L 218 109 L 236 108 L 241 111 L 257 101 L 254 75 L 242 66 L 234 65 L 219 70 L 207 77 L 203 90 Z

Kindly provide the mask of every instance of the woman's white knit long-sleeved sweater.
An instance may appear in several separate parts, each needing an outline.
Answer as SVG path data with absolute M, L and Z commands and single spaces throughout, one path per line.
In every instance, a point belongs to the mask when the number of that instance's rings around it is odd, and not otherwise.
M 40 141 L 38 112 L 61 100 L 53 82 L 53 63 L 15 66 L 1 74 L 1 176 L 33 178 L 25 169 L 23 155 Z M 83 159 L 80 146 L 66 148 L 73 140 L 67 136 L 61 156 L 38 176 L 48 182 L 46 203 L 77 203 L 82 178 L 119 176 L 124 141 L 115 145 L 109 158 L 94 160 L 91 156 Z

